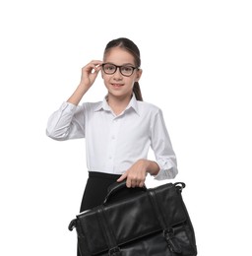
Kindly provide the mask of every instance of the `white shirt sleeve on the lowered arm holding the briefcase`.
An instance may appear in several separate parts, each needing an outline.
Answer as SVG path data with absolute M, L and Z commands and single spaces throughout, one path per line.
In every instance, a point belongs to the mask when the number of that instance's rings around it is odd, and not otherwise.
M 160 109 L 154 117 L 151 137 L 151 147 L 160 168 L 155 178 L 157 180 L 174 178 L 178 173 L 177 160 Z

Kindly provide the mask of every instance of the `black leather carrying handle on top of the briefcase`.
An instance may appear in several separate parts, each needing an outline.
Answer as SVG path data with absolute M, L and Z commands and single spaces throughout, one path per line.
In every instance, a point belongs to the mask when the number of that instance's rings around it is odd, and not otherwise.
M 146 192 L 147 187 L 144 185 L 143 187 L 136 187 L 136 188 L 128 188 L 126 186 L 126 180 L 123 180 L 122 182 L 114 182 L 112 185 L 110 185 L 107 189 L 107 195 L 103 201 L 103 204 L 107 204 L 109 201 L 111 201 L 112 197 L 120 193 L 120 191 L 127 189 L 129 192 L 137 192 L 142 191 Z

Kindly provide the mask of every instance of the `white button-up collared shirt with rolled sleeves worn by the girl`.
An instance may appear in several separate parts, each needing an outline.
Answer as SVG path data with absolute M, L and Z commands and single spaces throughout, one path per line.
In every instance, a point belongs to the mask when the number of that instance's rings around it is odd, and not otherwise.
M 47 136 L 55 140 L 86 138 L 87 166 L 91 171 L 122 174 L 154 151 L 156 179 L 174 178 L 176 157 L 161 110 L 132 96 L 126 109 L 115 115 L 106 99 L 74 105 L 63 102 L 49 117 Z

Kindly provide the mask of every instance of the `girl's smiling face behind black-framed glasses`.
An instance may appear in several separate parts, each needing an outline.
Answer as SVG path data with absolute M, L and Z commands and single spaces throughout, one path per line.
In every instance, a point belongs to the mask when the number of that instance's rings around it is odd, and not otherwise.
M 121 71 L 124 74 L 125 72 L 126 74 L 129 72 L 128 67 L 136 67 L 133 55 L 120 47 L 111 48 L 104 55 L 103 63 L 125 67 L 121 68 Z M 112 69 L 114 69 L 114 67 L 108 65 L 106 73 L 109 73 Z M 117 68 L 115 73 L 111 75 L 106 73 L 104 70 L 101 70 L 101 76 L 105 87 L 107 88 L 108 96 L 124 97 L 132 95 L 134 83 L 139 81 L 142 75 L 142 70 L 134 69 L 130 76 L 122 75 L 119 68 Z

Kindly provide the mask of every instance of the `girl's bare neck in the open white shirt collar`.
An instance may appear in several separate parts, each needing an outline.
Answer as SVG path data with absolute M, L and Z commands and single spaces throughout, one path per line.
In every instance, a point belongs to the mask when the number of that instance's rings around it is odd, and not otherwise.
M 131 95 L 129 96 L 107 96 L 107 103 L 113 110 L 116 115 L 119 115 L 122 111 L 125 110 L 129 104 Z

